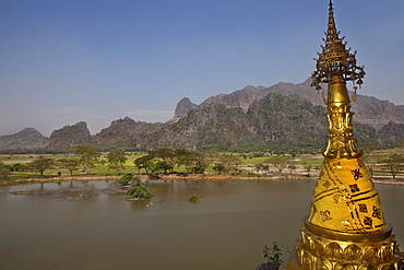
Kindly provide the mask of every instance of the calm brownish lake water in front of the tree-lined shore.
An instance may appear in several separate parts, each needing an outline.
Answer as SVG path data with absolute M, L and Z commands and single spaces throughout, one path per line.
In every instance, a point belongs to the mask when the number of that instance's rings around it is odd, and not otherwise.
M 153 198 L 71 201 L 10 191 L 103 189 L 116 181 L 0 188 L 0 269 L 249 270 L 278 242 L 283 259 L 309 214 L 314 180 L 148 181 Z M 404 186 L 377 185 L 404 246 Z M 190 195 L 201 201 L 188 202 Z M 403 248 L 402 248 L 403 249 Z

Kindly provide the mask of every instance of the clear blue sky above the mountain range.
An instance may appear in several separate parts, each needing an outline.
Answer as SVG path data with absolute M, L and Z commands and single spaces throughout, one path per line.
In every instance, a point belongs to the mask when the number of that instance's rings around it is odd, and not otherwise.
M 84 120 L 166 121 L 246 85 L 314 70 L 328 0 L 0 0 L 0 136 Z M 366 67 L 359 92 L 404 104 L 404 1 L 334 0 Z M 313 90 L 314 91 L 314 90 Z

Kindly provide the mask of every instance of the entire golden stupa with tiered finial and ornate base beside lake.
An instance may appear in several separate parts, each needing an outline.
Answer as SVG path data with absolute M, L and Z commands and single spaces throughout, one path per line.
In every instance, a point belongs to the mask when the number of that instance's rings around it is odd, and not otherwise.
M 318 91 L 328 85 L 329 139 L 323 152 L 310 214 L 300 230 L 287 269 L 372 270 L 404 269 L 392 226 L 385 222 L 378 190 L 367 173 L 361 152 L 353 138 L 350 99 L 363 84 L 364 67 L 356 63 L 356 51 L 346 49 L 345 37 L 335 27 L 330 0 L 328 31 L 318 54 L 312 84 Z M 349 96 L 346 82 L 352 81 Z

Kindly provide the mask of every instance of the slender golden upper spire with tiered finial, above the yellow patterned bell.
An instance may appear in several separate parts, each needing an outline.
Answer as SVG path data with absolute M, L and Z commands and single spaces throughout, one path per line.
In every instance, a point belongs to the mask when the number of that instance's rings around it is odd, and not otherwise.
M 340 37 L 340 31 L 336 30 L 334 19 L 334 8 L 330 0 L 329 19 L 325 45 L 321 46 L 322 51 L 318 52 L 316 71 L 312 73 L 312 86 L 321 90 L 320 83 L 328 84 L 328 95 L 324 93 L 323 101 L 328 105 L 328 120 L 329 120 L 329 141 L 328 146 L 323 152 L 325 157 L 330 159 L 352 159 L 361 155 L 360 151 L 356 149 L 356 142 L 353 138 L 350 98 L 346 89 L 346 81 L 353 81 L 355 93 L 355 83 L 363 84 L 365 77 L 364 67 L 356 64 L 356 51 L 350 52 L 350 48 L 346 49 L 345 37 Z

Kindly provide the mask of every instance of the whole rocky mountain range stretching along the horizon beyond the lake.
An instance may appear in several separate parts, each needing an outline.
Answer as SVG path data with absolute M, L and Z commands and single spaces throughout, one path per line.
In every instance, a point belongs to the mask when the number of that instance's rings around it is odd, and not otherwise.
M 354 132 L 359 142 L 393 145 L 404 133 L 404 106 L 358 95 L 353 103 Z M 0 137 L 0 149 L 69 148 L 94 143 L 99 148 L 155 150 L 259 150 L 260 148 L 322 148 L 326 138 L 326 113 L 321 95 L 310 86 L 277 83 L 270 87 L 248 85 L 230 94 L 211 96 L 200 105 L 188 97 L 178 102 L 175 118 L 165 124 L 114 120 L 91 136 L 85 122 L 55 130 L 48 143 L 40 134 L 36 144 L 21 133 Z M 23 132 L 24 133 L 24 132 Z M 14 138 L 14 139 L 13 139 Z M 34 146 L 31 146 L 34 145 Z

